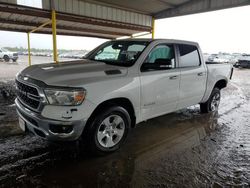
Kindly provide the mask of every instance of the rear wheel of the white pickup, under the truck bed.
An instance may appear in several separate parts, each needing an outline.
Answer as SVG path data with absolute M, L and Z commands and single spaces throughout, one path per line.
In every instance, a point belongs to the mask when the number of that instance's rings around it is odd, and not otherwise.
M 207 102 L 200 104 L 201 113 L 217 111 L 220 104 L 220 97 L 220 89 L 214 88 Z

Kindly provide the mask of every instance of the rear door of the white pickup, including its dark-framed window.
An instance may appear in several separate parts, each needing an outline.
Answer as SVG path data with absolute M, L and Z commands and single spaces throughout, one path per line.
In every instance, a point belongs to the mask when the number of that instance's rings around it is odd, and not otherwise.
M 195 45 L 178 44 L 180 95 L 178 109 L 198 104 L 206 90 L 207 72 Z

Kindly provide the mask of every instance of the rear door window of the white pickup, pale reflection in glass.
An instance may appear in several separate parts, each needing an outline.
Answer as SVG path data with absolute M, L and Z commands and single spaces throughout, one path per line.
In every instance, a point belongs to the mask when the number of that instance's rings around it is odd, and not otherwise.
M 200 56 L 196 46 L 180 44 L 180 67 L 200 66 Z

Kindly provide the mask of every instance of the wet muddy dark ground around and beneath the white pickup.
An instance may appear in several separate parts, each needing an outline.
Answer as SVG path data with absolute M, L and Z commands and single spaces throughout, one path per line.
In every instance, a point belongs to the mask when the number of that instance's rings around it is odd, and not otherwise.
M 249 77 L 234 71 L 218 112 L 200 114 L 197 105 L 141 123 L 103 157 L 75 143 L 9 134 L 18 130 L 14 90 L 2 94 L 0 129 L 12 127 L 0 135 L 0 187 L 250 187 Z

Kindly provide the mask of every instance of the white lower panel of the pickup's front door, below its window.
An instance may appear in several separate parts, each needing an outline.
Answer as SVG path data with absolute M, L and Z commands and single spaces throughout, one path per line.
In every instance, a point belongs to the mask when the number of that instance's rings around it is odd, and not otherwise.
M 172 76 L 177 78 L 171 79 Z M 176 110 L 180 84 L 178 69 L 143 72 L 140 79 L 142 119 Z

